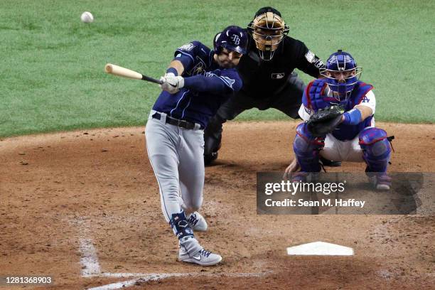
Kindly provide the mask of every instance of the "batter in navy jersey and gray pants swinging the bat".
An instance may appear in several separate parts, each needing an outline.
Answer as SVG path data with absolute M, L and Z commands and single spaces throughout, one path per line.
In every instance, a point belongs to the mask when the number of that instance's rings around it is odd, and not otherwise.
M 208 120 L 242 87 L 235 66 L 247 51 L 247 33 L 229 26 L 214 38 L 214 50 L 192 41 L 176 50 L 161 77 L 163 90 L 146 124 L 146 149 L 159 183 L 161 210 L 178 237 L 178 257 L 203 266 L 222 257 L 200 246 L 194 230 L 207 230 L 203 203 L 204 136 Z

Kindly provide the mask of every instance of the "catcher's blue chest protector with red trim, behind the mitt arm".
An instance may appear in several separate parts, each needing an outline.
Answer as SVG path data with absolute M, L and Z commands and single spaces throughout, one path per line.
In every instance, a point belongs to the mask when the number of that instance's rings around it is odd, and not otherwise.
M 325 79 L 317 79 L 310 82 L 304 92 L 304 106 L 308 109 L 312 109 L 313 112 L 317 112 L 319 109 L 331 107 L 333 104 L 340 104 L 345 108 L 345 112 L 347 112 L 350 109 L 353 109 L 355 105 L 367 102 L 367 97 L 365 97 L 365 95 L 373 88 L 372 85 L 367 85 L 365 82 L 358 81 L 355 88 L 350 93 L 350 97 L 348 97 L 347 100 L 340 102 L 335 99 L 335 97 L 328 97 L 328 95 L 326 95 L 327 86 Z M 332 134 L 340 141 L 352 140 L 365 127 L 370 127 L 372 118 L 373 116 L 370 116 L 356 125 L 340 124 Z

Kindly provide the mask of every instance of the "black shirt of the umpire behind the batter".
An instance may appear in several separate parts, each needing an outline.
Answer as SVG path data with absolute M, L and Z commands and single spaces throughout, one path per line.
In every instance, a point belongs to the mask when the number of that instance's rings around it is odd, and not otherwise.
M 323 62 L 303 42 L 289 36 L 284 36 L 272 60 L 262 60 L 249 36 L 249 52 L 237 69 L 243 80 L 242 92 L 257 99 L 281 92 L 295 68 L 317 78 L 322 67 Z

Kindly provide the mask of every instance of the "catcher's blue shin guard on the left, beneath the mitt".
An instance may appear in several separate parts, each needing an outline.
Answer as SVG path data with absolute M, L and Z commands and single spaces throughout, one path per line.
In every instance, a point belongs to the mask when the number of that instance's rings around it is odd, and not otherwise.
M 325 138 L 314 137 L 308 131 L 306 123 L 301 123 L 296 127 L 293 149 L 296 159 L 298 159 L 298 163 L 301 166 L 301 171 L 321 171 L 318 155 L 323 146 L 325 146 Z

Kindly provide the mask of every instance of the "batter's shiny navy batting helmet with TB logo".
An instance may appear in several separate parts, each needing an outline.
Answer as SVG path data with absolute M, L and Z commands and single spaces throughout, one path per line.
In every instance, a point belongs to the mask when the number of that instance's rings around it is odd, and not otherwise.
M 216 34 L 213 41 L 215 53 L 218 54 L 222 51 L 222 48 L 246 54 L 247 45 L 247 32 L 239 26 L 228 26 L 222 32 Z

